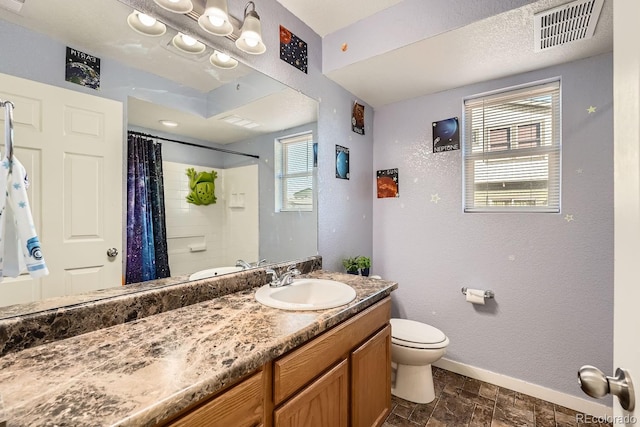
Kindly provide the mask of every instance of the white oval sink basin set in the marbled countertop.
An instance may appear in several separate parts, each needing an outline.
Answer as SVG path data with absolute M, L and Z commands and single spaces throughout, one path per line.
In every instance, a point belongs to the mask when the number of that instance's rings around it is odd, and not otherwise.
M 326 279 L 294 279 L 279 288 L 264 285 L 256 291 L 256 300 L 283 310 L 324 310 L 348 304 L 356 297 L 349 285 Z

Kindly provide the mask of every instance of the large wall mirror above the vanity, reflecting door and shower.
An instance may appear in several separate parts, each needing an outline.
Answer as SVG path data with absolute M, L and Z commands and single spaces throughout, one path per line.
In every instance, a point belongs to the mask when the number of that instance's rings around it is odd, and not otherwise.
M 215 46 L 210 44 L 195 54 L 180 50 L 173 42 L 178 31 L 170 26 L 154 37 L 136 32 L 127 23 L 134 10 L 126 3 L 47 0 L 27 1 L 17 11 L 0 7 L 0 49 L 6 59 L 0 65 L 0 98 L 16 105 L 16 154 L 32 170 L 32 210 L 51 270 L 37 280 L 28 275 L 5 278 L 0 282 L 0 307 L 23 304 L 23 313 L 42 299 L 58 298 L 63 304 L 65 295 L 122 288 L 128 225 L 127 139 L 133 135 L 162 147 L 171 276 L 188 280 L 200 270 L 235 266 L 238 259 L 255 265 L 260 260 L 275 263 L 317 254 L 314 173 L 309 178 L 311 189 L 295 191 L 295 198 L 306 208 L 296 208 L 294 203 L 286 209 L 278 202 L 291 197 L 278 182 L 279 144 L 306 135 L 309 143 L 317 141 L 317 102 L 242 63 L 232 69 L 215 66 L 210 61 Z M 81 66 L 73 71 L 81 84 L 66 81 L 67 47 L 100 59 L 99 87 L 90 87 L 98 83 L 92 74 L 95 69 Z M 268 46 L 273 52 L 277 48 Z M 83 104 L 87 99 L 89 103 L 103 100 L 105 111 L 111 104 L 121 109 L 93 114 L 93 106 Z M 56 111 L 63 113 L 56 115 Z M 101 127 L 109 122 L 104 119 L 108 114 L 116 118 L 120 114 L 115 136 Z M 76 116 L 75 124 L 63 124 L 59 132 L 88 135 L 76 135 L 72 147 L 92 142 L 94 130 L 96 135 L 106 135 L 107 143 L 122 144 L 114 163 L 101 163 L 91 153 L 82 157 L 79 148 L 65 148 L 66 142 L 58 142 L 57 136 L 36 135 L 53 126 L 48 125 L 52 116 L 60 117 L 52 123 Z M 177 126 L 166 127 L 166 121 Z M 54 145 L 61 151 L 51 151 Z M 68 163 L 70 168 L 60 172 L 58 179 L 48 173 L 55 167 L 47 162 Z M 92 181 L 89 177 L 101 168 L 106 174 Z M 199 183 L 187 175 L 190 168 L 197 173 L 216 172 L 216 203 L 187 202 L 192 185 Z M 206 181 L 206 174 L 201 177 Z M 64 201 L 61 196 L 71 191 L 80 196 Z M 115 193 L 115 199 L 100 199 L 102 191 Z M 58 211 L 62 217 L 54 219 Z M 65 217 L 69 212 L 71 216 Z M 98 216 L 116 226 L 96 226 L 92 221 Z M 116 231 L 107 232 L 112 229 Z M 67 246 L 58 246 L 58 241 Z M 80 241 L 87 246 L 73 246 Z M 116 257 L 107 256 L 111 248 L 118 250 Z M 95 252 L 93 261 L 70 262 L 89 252 Z M 116 266 L 116 273 L 101 276 L 101 269 L 109 266 Z

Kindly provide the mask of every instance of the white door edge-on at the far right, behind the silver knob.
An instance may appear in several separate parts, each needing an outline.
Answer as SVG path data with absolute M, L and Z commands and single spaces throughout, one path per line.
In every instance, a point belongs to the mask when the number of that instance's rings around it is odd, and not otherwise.
M 640 390 L 640 2 L 616 0 L 614 22 L 615 371 L 623 368 Z M 597 345 L 597 343 L 595 343 Z M 611 374 L 609 374 L 611 375 Z M 637 425 L 614 399 L 615 425 Z

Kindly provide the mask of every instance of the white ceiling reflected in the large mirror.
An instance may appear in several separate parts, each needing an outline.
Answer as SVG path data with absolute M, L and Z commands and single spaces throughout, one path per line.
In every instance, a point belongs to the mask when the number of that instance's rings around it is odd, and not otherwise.
M 214 67 L 209 63 L 210 49 L 196 56 L 181 53 L 171 44 L 176 34 L 172 29 L 161 37 L 134 32 L 126 23 L 131 11 L 116 0 L 27 0 L 19 14 L 0 8 L 0 19 L 44 33 L 68 46 L 82 46 L 101 58 L 113 58 L 131 68 L 164 77 L 192 89 L 192 96 L 208 99 L 216 107 L 213 116 L 204 117 L 143 101 L 145 93 L 138 90 L 142 99 L 130 98 L 127 111 L 129 124 L 133 126 L 227 144 L 317 120 L 316 101 L 266 76 L 252 77 L 257 72 L 243 64 L 234 70 Z M 259 91 L 260 86 L 265 91 L 237 105 L 242 94 L 236 86 L 240 87 L 238 81 L 243 79 L 265 82 L 249 85 L 251 90 Z M 224 91 L 227 84 L 233 89 Z M 211 94 L 216 90 L 224 91 L 226 96 L 214 98 Z M 221 108 L 227 102 L 231 106 Z M 231 114 L 259 126 L 246 129 L 220 120 Z M 175 130 L 164 127 L 161 119 L 176 121 L 180 126 Z

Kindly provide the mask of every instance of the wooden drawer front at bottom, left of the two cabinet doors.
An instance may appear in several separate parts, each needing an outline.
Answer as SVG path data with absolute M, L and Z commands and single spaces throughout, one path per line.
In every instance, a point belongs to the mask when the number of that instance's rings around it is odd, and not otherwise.
M 264 418 L 263 371 L 247 378 L 169 424 L 170 427 L 261 425 Z

